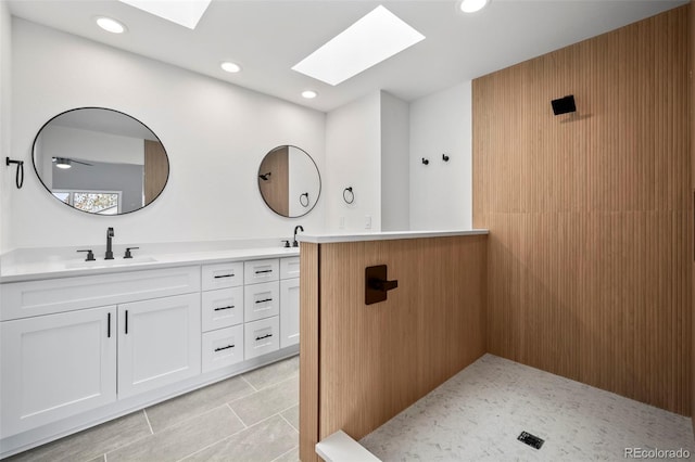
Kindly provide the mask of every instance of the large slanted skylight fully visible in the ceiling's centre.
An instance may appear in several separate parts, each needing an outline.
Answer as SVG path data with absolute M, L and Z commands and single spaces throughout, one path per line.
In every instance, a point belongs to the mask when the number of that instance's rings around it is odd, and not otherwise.
M 424 39 L 422 34 L 379 5 L 292 69 L 334 86 Z

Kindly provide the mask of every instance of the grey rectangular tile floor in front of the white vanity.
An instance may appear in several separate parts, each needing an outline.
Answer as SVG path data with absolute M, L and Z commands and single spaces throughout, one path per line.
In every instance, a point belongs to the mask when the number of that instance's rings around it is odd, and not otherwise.
M 298 429 L 295 356 L 7 461 L 298 461 Z

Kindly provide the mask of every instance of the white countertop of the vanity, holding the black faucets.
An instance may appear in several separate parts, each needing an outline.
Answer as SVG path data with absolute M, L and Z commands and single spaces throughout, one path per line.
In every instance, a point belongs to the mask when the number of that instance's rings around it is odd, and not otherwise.
M 113 260 L 104 260 L 104 248 L 93 246 L 96 261 L 85 261 L 85 254 L 76 253 L 78 247 L 13 251 L 0 258 L 0 283 L 170 268 L 182 265 L 292 257 L 300 254 L 299 247 L 285 248 L 279 240 L 258 240 L 141 244 L 140 248 L 132 251 L 132 259 L 124 259 L 125 247 L 134 246 L 137 245 L 114 245 Z M 87 245 L 79 248 L 92 247 Z

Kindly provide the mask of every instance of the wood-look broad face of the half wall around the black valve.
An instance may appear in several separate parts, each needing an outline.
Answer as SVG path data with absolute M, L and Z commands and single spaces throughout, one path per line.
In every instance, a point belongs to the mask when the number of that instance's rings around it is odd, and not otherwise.
M 484 354 L 485 246 L 485 235 L 320 245 L 319 439 L 362 438 Z M 399 287 L 367 306 L 375 265 Z

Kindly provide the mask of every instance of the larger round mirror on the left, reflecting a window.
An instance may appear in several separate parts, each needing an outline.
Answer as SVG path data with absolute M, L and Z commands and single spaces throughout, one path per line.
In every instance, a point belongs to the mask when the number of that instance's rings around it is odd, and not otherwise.
M 152 130 L 102 107 L 66 111 L 47 121 L 34 140 L 34 168 L 55 198 L 98 215 L 147 206 L 169 176 L 166 151 Z

